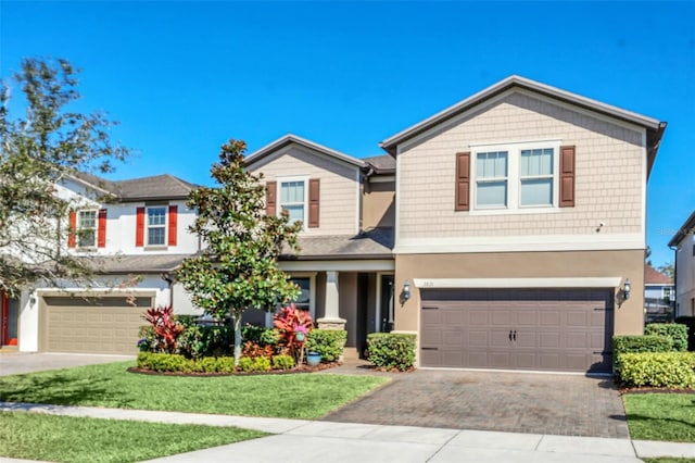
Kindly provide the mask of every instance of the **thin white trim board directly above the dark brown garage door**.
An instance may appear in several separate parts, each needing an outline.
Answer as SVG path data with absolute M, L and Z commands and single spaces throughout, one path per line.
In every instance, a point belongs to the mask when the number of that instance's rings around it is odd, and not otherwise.
M 622 277 L 568 278 L 413 278 L 416 288 L 617 288 Z

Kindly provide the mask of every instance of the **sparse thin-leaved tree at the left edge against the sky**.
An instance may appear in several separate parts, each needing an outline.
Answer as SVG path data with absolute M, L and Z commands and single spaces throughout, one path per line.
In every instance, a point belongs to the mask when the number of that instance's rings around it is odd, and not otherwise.
M 56 186 L 76 171 L 111 172 L 128 150 L 111 141 L 115 123 L 103 113 L 73 110 L 77 74 L 65 60 L 24 59 L 0 79 L 0 292 L 92 274 L 88 260 L 67 252 L 75 200 Z M 11 90 L 21 97 L 12 104 Z

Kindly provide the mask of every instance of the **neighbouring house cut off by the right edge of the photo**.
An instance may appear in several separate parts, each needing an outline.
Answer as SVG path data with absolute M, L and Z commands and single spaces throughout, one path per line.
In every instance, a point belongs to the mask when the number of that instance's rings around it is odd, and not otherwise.
M 695 316 L 695 211 L 669 248 L 675 250 L 675 316 Z

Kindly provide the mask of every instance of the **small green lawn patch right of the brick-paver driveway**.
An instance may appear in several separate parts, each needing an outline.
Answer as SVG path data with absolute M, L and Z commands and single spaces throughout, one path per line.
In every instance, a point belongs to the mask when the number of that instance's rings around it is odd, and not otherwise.
M 695 442 L 695 395 L 627 393 L 622 400 L 633 439 Z

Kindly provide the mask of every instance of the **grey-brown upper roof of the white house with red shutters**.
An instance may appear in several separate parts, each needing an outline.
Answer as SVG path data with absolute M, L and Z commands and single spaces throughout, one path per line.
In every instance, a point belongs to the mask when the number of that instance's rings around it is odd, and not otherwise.
M 89 188 L 105 195 L 111 195 L 117 200 L 125 202 L 187 199 L 188 193 L 198 188 L 197 185 L 169 174 L 130 178 L 126 180 L 106 180 L 105 178 L 101 178 L 86 172 L 75 172 L 71 175 L 71 178 Z

